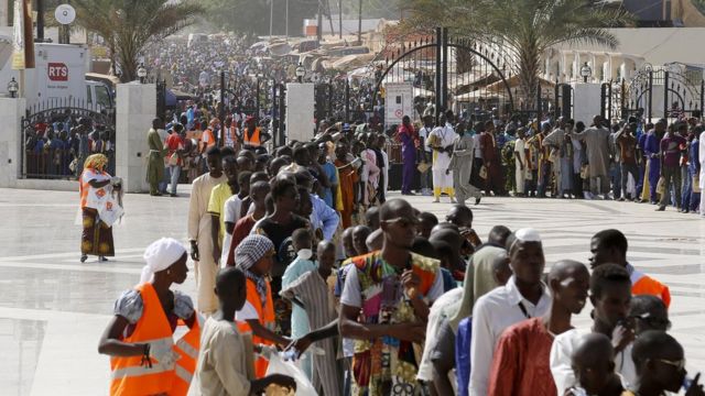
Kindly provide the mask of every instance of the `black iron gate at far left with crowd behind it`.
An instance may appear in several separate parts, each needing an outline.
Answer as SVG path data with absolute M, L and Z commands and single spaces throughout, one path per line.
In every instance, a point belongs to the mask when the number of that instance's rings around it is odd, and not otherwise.
M 115 175 L 115 118 L 105 109 L 72 99 L 30 107 L 21 121 L 22 177 L 75 179 L 90 154 L 108 157 Z

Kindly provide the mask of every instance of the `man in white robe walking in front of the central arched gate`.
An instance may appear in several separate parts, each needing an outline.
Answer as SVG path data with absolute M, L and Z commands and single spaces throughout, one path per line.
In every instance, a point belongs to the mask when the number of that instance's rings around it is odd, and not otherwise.
M 455 130 L 453 129 L 453 112 L 448 111 L 441 116 L 438 127 L 436 127 L 429 139 L 426 146 L 433 150 L 433 197 L 434 202 L 441 201 L 441 194 L 445 193 L 451 197 L 451 202 L 455 202 L 453 190 L 453 170 L 446 172 L 451 165 L 453 154 L 453 143 L 455 141 Z

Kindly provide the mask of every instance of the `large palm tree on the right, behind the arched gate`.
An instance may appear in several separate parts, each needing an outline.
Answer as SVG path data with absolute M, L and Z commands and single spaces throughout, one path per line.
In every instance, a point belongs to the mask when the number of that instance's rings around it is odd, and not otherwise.
M 618 41 L 607 28 L 631 21 L 623 9 L 596 7 L 593 0 L 413 0 L 411 9 L 406 26 L 443 25 L 501 48 L 529 102 L 535 97 L 545 50 L 563 43 L 615 48 Z

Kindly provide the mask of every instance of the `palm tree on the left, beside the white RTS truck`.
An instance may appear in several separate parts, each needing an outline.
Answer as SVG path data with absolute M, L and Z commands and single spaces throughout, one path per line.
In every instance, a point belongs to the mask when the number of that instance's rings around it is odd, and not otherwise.
M 148 44 L 188 26 L 203 12 L 188 0 L 74 0 L 72 4 L 76 22 L 106 41 L 123 82 L 137 79 L 138 58 Z

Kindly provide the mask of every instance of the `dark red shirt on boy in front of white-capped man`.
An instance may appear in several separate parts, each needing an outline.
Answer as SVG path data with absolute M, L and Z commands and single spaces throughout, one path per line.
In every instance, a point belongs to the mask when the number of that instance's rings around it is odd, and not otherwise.
M 492 396 L 555 396 L 550 355 L 553 336 L 541 318 L 513 324 L 499 338 L 489 374 Z

